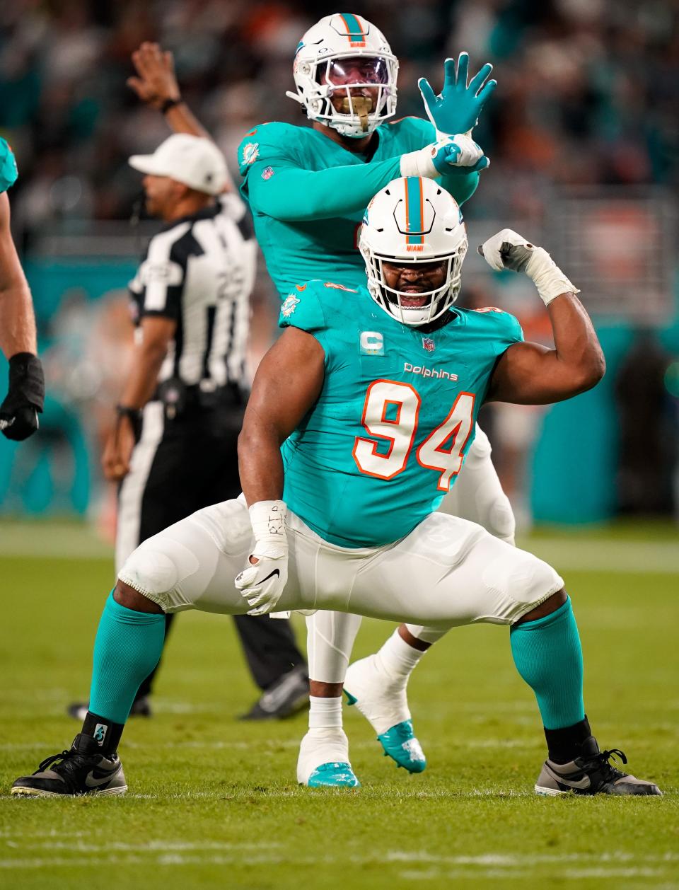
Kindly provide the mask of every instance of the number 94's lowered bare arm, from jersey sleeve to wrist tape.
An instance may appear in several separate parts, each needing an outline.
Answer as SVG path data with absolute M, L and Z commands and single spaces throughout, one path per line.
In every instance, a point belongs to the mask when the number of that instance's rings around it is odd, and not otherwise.
M 324 360 L 314 336 L 286 328 L 257 368 L 238 436 L 240 483 L 248 505 L 281 498 L 280 446 L 318 399 Z

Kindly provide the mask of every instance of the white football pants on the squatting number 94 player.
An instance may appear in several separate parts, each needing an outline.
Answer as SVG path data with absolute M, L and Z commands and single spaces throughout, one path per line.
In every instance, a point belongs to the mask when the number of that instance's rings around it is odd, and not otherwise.
M 444 630 L 477 621 L 513 624 L 563 587 L 537 556 L 445 514 L 428 516 L 395 544 L 348 549 L 319 538 L 288 511 L 287 538 L 280 611 L 352 612 Z M 224 501 L 148 538 L 118 578 L 164 611 L 242 614 L 248 606 L 234 578 L 252 546 L 245 499 Z

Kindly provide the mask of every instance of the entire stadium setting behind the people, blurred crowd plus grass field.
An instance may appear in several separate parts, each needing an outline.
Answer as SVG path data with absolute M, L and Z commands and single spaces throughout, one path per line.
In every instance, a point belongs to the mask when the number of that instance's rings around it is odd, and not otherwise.
M 496 409 L 484 424 L 524 526 L 520 543 L 552 562 L 574 596 L 597 735 L 666 797 L 531 794 L 543 740 L 497 627 L 456 630 L 413 676 L 430 764 L 422 776 L 388 767 L 349 708 L 364 787 L 310 796 L 294 781 L 305 717 L 244 729 L 234 715 L 256 691 L 231 623 L 191 612 L 174 631 L 154 718 L 125 732 L 127 796 L 9 799 L 16 776 L 70 744 L 65 705 L 86 691 L 111 584 L 112 498 L 99 452 L 125 372 L 125 283 L 155 226 L 130 227 L 140 181 L 126 158 L 167 134 L 125 86 L 130 53 L 145 39 L 174 51 L 184 97 L 238 181 L 234 151 L 252 125 L 304 123 L 284 96 L 292 53 L 328 12 L 258 0 L 0 4 L 0 132 L 19 161 L 12 217 L 48 381 L 40 432 L 19 446 L 0 438 L 0 885 L 679 886 L 679 10 L 670 0 L 352 8 L 384 29 L 400 59 L 400 115 L 421 113 L 416 79 L 440 86 L 446 55 L 464 48 L 473 68 L 496 65 L 497 92 L 476 131 L 492 166 L 465 207 L 471 243 L 510 225 L 549 247 L 582 287 L 609 371 L 576 400 Z M 464 281 L 470 302 L 499 303 L 527 336 L 548 336 L 519 277 L 491 278 L 470 251 Z M 262 267 L 253 364 L 274 336 L 276 304 Z M 385 633 L 365 622 L 355 655 Z

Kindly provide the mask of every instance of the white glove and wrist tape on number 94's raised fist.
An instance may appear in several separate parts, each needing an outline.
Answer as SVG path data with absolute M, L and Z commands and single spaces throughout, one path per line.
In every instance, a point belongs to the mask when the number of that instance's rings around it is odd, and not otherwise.
M 533 279 L 546 306 L 561 294 L 579 294 L 579 290 L 554 263 L 544 247 L 535 247 L 512 229 L 498 231 L 479 247 L 479 253 L 491 269 L 525 272 Z

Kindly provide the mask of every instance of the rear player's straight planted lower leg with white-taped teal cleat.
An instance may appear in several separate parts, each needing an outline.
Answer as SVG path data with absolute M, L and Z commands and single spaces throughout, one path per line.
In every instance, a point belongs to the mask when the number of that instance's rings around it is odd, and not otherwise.
M 342 684 L 360 616 L 319 611 L 306 619 L 309 732 L 300 745 L 297 781 L 309 788 L 358 788 L 342 728 Z

